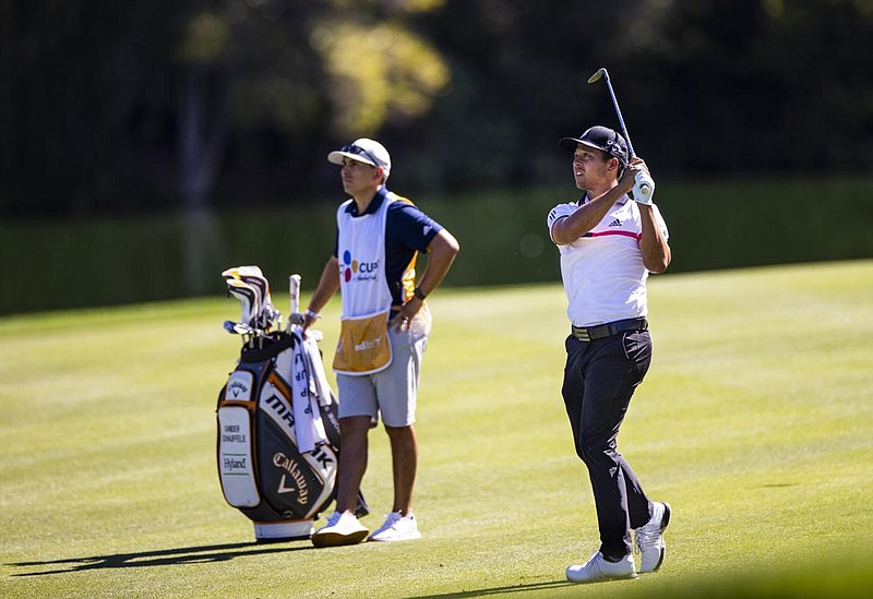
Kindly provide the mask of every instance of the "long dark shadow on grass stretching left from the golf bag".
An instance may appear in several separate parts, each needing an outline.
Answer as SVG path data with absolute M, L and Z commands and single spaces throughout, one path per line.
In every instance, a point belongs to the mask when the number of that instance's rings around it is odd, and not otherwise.
M 178 549 L 164 549 L 157 551 L 142 551 L 137 553 L 117 553 L 115 555 L 93 555 L 89 558 L 70 558 L 67 560 L 50 560 L 45 562 L 17 562 L 7 564 L 17 567 L 44 567 L 40 572 L 22 572 L 12 576 L 47 576 L 49 574 L 67 574 L 70 572 L 84 572 L 88 570 L 121 568 L 121 567 L 153 567 L 164 565 L 199 564 L 210 562 L 226 562 L 235 558 L 247 555 L 265 555 L 270 553 L 287 553 L 315 549 L 311 544 L 287 546 L 285 543 L 259 543 L 254 541 L 244 543 L 210 544 L 203 547 L 182 547 Z

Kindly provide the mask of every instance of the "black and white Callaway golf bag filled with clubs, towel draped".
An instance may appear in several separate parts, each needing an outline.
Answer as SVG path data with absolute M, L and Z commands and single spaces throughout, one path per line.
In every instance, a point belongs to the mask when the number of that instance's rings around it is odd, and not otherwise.
M 302 335 L 299 275 L 290 277 L 285 331 L 261 268 L 239 266 L 223 276 L 228 295 L 242 304 L 240 322 L 225 321 L 224 327 L 243 343 L 218 395 L 222 491 L 253 522 L 255 540 L 308 539 L 336 496 L 339 458 L 337 399 L 325 376 L 321 334 Z M 362 494 L 356 511 L 369 513 Z

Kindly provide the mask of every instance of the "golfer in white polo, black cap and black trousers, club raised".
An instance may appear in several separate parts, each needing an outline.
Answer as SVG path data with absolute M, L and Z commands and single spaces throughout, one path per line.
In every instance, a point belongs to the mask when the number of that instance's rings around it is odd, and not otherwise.
M 573 177 L 584 192 L 548 216 L 571 321 L 561 393 L 576 454 L 588 469 L 600 531 L 600 549 L 585 564 L 569 566 L 566 577 L 634 578 L 631 530 L 639 572 L 653 572 L 663 561 L 670 522 L 670 505 L 649 500 L 617 446 L 631 396 L 651 362 L 646 278 L 670 264 L 667 225 L 651 203 L 648 167 L 636 157 L 629 161 L 618 132 L 593 127 L 560 145 L 573 153 Z M 643 193 L 643 185 L 650 193 Z

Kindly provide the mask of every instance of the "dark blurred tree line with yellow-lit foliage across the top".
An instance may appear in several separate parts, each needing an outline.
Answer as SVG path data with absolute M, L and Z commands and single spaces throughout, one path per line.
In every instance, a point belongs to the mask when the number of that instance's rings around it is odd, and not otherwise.
M 3 0 L 0 215 L 334 199 L 357 136 L 410 193 L 561 182 L 602 65 L 656 173 L 864 172 L 871 43 L 873 0 Z

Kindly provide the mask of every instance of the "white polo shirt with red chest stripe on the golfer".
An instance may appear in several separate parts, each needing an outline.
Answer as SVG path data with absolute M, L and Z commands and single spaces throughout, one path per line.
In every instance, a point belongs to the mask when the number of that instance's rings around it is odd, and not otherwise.
M 559 204 L 549 212 L 550 237 L 554 223 L 576 212 L 579 205 L 578 202 Z M 654 209 L 667 238 L 667 224 L 658 207 Z M 558 245 L 567 297 L 566 314 L 574 326 L 595 326 L 648 314 L 648 271 L 639 250 L 642 237 L 639 207 L 625 195 L 594 229 L 566 245 Z

